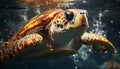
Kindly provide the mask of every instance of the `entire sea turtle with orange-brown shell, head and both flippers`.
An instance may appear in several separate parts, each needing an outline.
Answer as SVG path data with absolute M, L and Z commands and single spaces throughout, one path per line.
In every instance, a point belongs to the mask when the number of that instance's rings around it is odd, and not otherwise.
M 87 33 L 87 11 L 53 9 L 33 17 L 9 42 L 0 48 L 0 61 L 22 56 L 50 57 L 77 53 L 82 44 L 92 45 L 93 51 L 117 53 L 105 37 Z M 23 51 L 24 50 L 24 51 Z

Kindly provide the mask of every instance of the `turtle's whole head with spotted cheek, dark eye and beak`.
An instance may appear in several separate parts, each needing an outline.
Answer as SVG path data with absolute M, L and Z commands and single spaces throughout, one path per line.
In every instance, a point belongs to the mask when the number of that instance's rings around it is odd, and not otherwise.
M 49 34 L 53 39 L 55 35 L 68 37 L 70 40 L 80 36 L 88 28 L 87 11 L 82 9 L 67 9 L 57 14 L 49 25 Z M 61 38 L 61 37 L 60 37 Z

